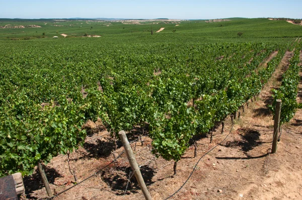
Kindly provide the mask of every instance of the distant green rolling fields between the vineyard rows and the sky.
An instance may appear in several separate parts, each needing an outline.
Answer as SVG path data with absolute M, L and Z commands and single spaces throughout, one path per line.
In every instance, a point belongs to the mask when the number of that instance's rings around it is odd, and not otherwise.
M 0 26 L 25 26 L 25 28 L 0 29 L 0 40 L 47 40 L 58 36 L 59 40 L 81 38 L 84 35 L 100 35 L 90 40 L 109 43 L 186 43 L 186 42 L 285 42 L 302 36 L 302 26 L 286 21 L 268 19 L 231 18 L 231 21 L 206 23 L 201 20 L 181 22 L 105 22 L 105 21 L 54 21 L 54 20 L 0 20 Z M 126 24 L 127 23 L 127 24 Z M 179 24 L 179 26 L 176 26 Z M 41 28 L 27 28 L 37 25 Z M 155 33 L 165 28 L 160 33 Z M 151 29 L 154 35 L 150 34 Z M 242 35 L 238 36 L 241 32 Z M 67 34 L 64 38 L 60 34 Z M 85 41 L 86 39 L 84 39 Z

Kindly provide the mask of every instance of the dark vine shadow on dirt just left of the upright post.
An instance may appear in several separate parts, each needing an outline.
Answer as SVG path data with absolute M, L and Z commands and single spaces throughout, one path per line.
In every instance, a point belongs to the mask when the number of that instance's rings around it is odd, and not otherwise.
M 265 143 L 260 141 L 260 133 L 259 131 L 253 130 L 253 129 L 238 129 L 241 134 L 241 141 L 230 141 L 227 142 L 225 145 L 221 145 L 224 147 L 241 147 L 241 151 L 246 154 L 246 156 L 249 158 L 250 156 L 248 154 L 249 151 L 254 149 L 255 147 Z

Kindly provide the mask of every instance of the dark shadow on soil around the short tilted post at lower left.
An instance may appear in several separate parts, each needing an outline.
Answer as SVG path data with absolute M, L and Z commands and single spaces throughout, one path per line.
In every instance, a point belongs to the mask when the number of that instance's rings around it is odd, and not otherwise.
M 50 168 L 50 167 L 45 167 L 43 165 L 47 180 L 50 184 L 54 184 L 54 180 L 59 177 L 63 177 L 61 174 L 59 174 L 55 169 Z M 42 189 L 44 187 L 44 184 L 41 179 L 41 175 L 36 169 L 36 171 L 33 173 L 33 175 L 30 176 L 25 176 L 23 178 L 24 186 L 25 186 L 25 193 L 26 197 L 28 199 L 38 199 L 35 196 L 32 196 L 33 191 Z

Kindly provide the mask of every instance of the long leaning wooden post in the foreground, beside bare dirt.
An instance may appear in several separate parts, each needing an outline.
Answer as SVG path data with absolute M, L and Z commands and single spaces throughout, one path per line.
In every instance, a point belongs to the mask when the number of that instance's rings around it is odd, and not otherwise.
M 145 185 L 145 182 L 141 176 L 141 173 L 140 173 L 140 170 L 139 170 L 139 167 L 138 167 L 138 164 L 137 164 L 137 161 L 133 155 L 133 152 L 132 152 L 132 149 L 131 149 L 131 146 L 128 142 L 128 138 L 125 134 L 125 131 L 120 131 L 118 133 L 119 137 L 120 137 L 120 140 L 124 146 L 124 149 L 125 149 L 125 153 L 127 155 L 127 158 L 129 160 L 129 164 L 132 168 L 132 171 L 134 172 L 134 175 L 135 175 L 135 178 L 140 186 L 140 189 L 145 197 L 145 199 L 147 200 L 151 200 L 152 197 L 147 189 L 147 186 Z

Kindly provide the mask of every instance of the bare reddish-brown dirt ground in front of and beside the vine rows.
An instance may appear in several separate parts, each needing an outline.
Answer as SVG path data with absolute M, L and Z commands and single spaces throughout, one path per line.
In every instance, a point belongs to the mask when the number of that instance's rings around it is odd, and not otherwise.
M 270 154 L 273 120 L 267 105 L 272 103 L 271 89 L 280 86 L 291 57 L 292 52 L 286 52 L 256 101 L 254 98 L 250 100 L 248 107 L 244 106 L 244 112 L 240 109 L 241 117 L 235 120 L 229 137 L 201 159 L 186 185 L 170 199 L 302 199 L 301 110 L 283 125 L 277 153 Z M 302 72 L 299 74 L 302 77 Z M 302 81 L 298 85 L 297 100 L 302 102 Z M 215 127 L 211 144 L 208 135 L 197 138 L 197 157 L 194 158 L 194 146 L 191 146 L 178 162 L 175 176 L 173 161 L 155 158 L 150 153 L 152 146 L 151 139 L 147 137 L 147 125 L 128 133 L 129 141 L 137 140 L 131 144 L 132 150 L 152 197 L 165 199 L 180 188 L 198 159 L 219 144 L 231 127 L 228 117 L 223 134 L 220 124 Z M 96 123 L 90 121 L 83 128 L 87 129 L 89 136 L 83 147 L 70 154 L 70 170 L 66 155 L 55 157 L 45 167 L 54 194 L 74 184 L 73 170 L 79 182 L 106 166 L 123 150 L 117 142 L 115 151 L 114 140 L 103 129 L 100 120 Z M 139 139 L 139 135 L 143 137 Z M 135 178 L 128 182 L 129 172 L 130 167 L 123 154 L 105 170 L 55 199 L 143 199 Z M 27 198 L 47 197 L 37 172 L 25 177 L 24 182 Z

